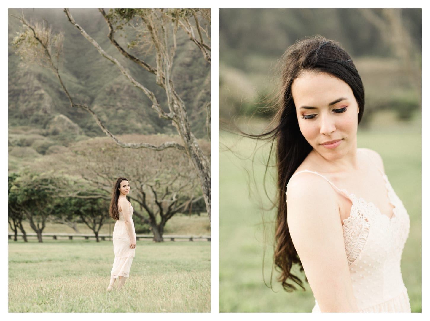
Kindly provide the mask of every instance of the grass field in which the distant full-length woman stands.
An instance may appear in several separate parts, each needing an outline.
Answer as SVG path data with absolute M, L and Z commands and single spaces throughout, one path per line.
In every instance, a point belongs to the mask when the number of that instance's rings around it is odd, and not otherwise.
M 108 293 L 113 261 L 111 241 L 9 240 L 9 312 L 210 312 L 210 242 L 138 241 Z

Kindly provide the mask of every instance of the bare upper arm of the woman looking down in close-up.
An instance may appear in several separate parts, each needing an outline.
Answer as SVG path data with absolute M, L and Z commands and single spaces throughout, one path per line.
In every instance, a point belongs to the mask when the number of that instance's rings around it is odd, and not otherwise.
M 302 173 L 288 185 L 287 222 L 321 312 L 358 312 L 345 252 L 338 194 Z

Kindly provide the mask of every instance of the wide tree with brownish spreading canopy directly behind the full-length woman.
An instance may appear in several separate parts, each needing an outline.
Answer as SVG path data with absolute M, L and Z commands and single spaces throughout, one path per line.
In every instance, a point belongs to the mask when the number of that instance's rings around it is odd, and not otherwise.
M 157 145 L 167 139 L 179 140 L 161 135 L 126 135 L 121 139 Z M 209 143 L 200 144 L 208 153 Z M 38 164 L 38 170 L 48 169 L 74 174 L 74 184 L 61 188 L 61 195 L 68 198 L 110 200 L 114 181 L 119 176 L 129 179 L 129 199 L 133 216 L 138 218 L 134 220 L 149 224 L 156 242 L 163 241 L 164 227 L 172 216 L 186 212 L 203 199 L 190 159 L 177 150 L 124 149 L 108 138 L 95 138 L 77 142 L 68 153 L 52 154 L 43 165 Z

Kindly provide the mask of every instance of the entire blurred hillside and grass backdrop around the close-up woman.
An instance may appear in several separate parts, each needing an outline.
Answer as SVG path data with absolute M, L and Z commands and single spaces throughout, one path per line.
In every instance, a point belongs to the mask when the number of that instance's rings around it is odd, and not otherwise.
M 275 88 L 277 59 L 296 40 L 321 34 L 344 46 L 362 77 L 358 147 L 381 154 L 408 210 L 402 275 L 412 312 L 421 312 L 421 9 L 220 9 L 219 29 L 219 311 L 314 305 L 307 284 L 286 293 L 272 268 L 270 168 L 263 185 L 270 146 L 232 132 L 264 130 L 273 111 L 261 112 L 261 101 Z

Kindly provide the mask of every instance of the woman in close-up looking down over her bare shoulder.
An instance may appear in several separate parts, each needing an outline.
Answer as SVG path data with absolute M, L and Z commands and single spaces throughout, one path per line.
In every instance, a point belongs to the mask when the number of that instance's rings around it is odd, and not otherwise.
M 261 135 L 276 142 L 279 281 L 302 287 L 290 271 L 301 265 L 313 312 L 410 312 L 400 272 L 408 213 L 381 157 L 357 148 L 361 78 L 340 44 L 320 36 L 284 58 L 274 129 Z

